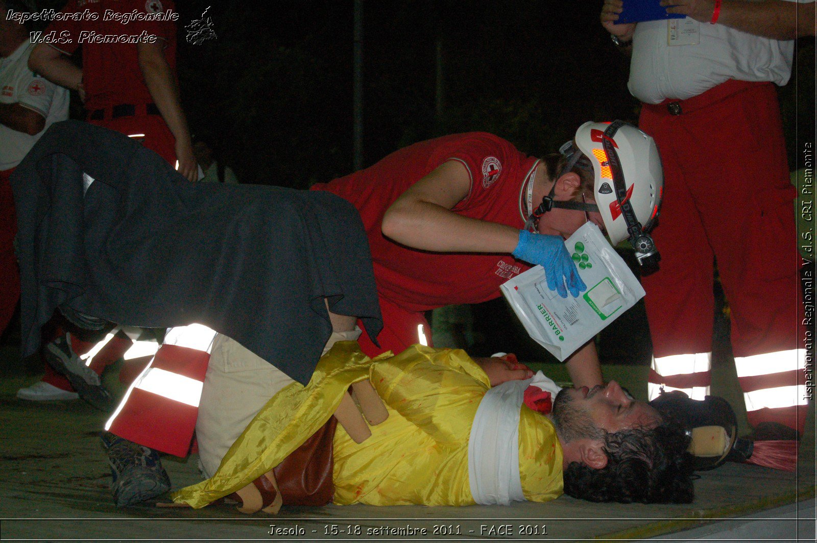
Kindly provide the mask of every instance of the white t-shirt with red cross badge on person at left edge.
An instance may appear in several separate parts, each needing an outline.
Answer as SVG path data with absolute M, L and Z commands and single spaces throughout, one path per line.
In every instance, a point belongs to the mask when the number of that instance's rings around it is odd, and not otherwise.
M 0 103 L 33 109 L 46 119 L 46 126 L 29 136 L 0 124 L 0 170 L 16 167 L 53 122 L 68 118 L 69 92 L 29 69 L 33 47 L 26 40 L 10 56 L 0 58 Z

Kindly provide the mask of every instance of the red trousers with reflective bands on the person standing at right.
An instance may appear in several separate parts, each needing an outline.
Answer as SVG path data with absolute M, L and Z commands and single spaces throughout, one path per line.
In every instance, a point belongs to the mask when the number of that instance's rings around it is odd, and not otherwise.
M 680 114 L 666 104 L 641 111 L 641 129 L 654 137 L 664 169 L 654 231 L 662 260 L 644 278 L 654 345 L 650 398 L 661 384 L 708 394 L 717 259 L 749 422 L 802 431 L 796 191 L 775 87 L 729 81 L 679 105 Z M 685 369 L 672 367 L 684 357 Z

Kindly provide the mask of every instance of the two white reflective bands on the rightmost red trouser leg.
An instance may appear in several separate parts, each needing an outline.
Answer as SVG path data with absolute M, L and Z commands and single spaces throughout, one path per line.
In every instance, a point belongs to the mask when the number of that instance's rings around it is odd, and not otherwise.
M 775 353 L 755 354 L 734 359 L 738 377 L 770 376 L 783 372 L 803 372 L 806 369 L 806 349 L 791 349 Z M 788 380 L 788 378 L 787 378 Z M 757 411 L 768 407 L 793 407 L 807 405 L 806 385 L 797 384 L 797 373 L 792 375 L 792 384 L 771 386 L 743 393 L 746 411 Z M 778 382 L 777 385 L 780 383 Z

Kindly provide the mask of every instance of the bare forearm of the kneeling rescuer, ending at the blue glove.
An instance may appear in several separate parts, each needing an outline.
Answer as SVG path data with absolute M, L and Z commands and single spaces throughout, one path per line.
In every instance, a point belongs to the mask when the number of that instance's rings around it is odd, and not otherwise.
M 509 254 L 519 243 L 518 229 L 422 201 L 395 202 L 386 211 L 382 229 L 395 242 L 424 251 Z

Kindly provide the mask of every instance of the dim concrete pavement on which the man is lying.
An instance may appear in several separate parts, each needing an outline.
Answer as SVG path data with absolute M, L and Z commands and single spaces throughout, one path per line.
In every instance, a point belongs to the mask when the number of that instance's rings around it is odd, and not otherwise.
M 97 437 L 105 414 L 82 401 L 17 399 L 16 389 L 36 377 L 12 371 L 9 357 L 14 356 L 13 350 L 0 350 L 7 374 L 0 384 L 2 540 L 577 541 L 604 536 L 635 540 L 793 505 L 815 492 L 812 413 L 797 473 L 727 464 L 701 474 L 692 505 L 600 505 L 561 496 L 546 504 L 510 507 L 284 508 L 275 517 L 248 516 L 223 505 L 203 510 L 154 505 L 117 509 L 110 498 L 109 470 Z M 633 390 L 644 382 L 641 373 L 645 368 L 605 367 L 605 375 Z M 163 464 L 174 487 L 200 480 L 194 456 L 184 460 L 164 456 Z M 797 537 L 797 522 L 769 522 Z M 813 536 L 812 531 L 801 541 L 814 541 Z

